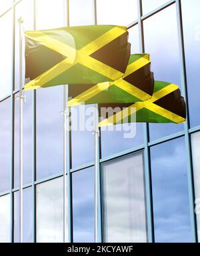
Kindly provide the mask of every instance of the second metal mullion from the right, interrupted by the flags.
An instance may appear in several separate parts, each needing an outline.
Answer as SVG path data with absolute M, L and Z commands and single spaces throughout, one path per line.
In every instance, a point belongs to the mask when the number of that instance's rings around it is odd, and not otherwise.
M 139 27 L 139 41 L 141 52 L 145 52 L 144 43 L 144 33 L 143 33 L 143 21 L 142 17 L 142 1 L 137 0 L 138 3 L 138 27 Z M 153 230 L 153 199 L 152 199 L 152 185 L 151 185 L 151 162 L 150 162 L 150 152 L 148 147 L 149 142 L 149 125 L 144 124 L 144 159 L 145 159 L 145 193 L 146 193 L 146 204 L 147 204 L 147 232 L 148 232 L 148 242 L 154 242 L 154 230 Z

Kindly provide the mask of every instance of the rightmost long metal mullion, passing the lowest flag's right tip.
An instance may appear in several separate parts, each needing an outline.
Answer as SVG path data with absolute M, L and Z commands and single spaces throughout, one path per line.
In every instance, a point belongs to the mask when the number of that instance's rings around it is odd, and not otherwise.
M 193 165 L 191 155 L 191 137 L 189 135 L 189 107 L 187 99 L 187 73 L 185 64 L 185 49 L 184 49 L 184 37 L 183 37 L 183 20 L 181 11 L 181 0 L 176 0 L 177 9 L 177 25 L 178 25 L 178 39 L 179 39 L 179 51 L 180 51 L 180 62 L 181 62 L 181 89 L 186 102 L 187 120 L 184 125 L 185 131 L 185 150 L 186 150 L 186 161 L 187 161 L 187 179 L 189 189 L 189 211 L 191 217 L 191 229 L 193 241 L 197 242 L 197 220 L 195 216 L 195 189 L 193 181 Z

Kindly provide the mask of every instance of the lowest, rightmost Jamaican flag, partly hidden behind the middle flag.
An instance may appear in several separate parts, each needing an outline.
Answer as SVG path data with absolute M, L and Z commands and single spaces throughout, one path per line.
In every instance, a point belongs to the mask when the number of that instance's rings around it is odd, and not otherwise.
M 153 97 L 135 104 L 99 105 L 101 121 L 99 127 L 136 122 L 144 123 L 183 123 L 186 118 L 185 101 L 178 85 L 155 81 Z M 132 117 L 132 119 L 131 119 Z

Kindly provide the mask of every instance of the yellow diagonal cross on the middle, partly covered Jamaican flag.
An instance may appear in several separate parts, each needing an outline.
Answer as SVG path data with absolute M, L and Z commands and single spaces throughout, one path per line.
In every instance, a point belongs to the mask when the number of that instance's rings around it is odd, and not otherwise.
M 125 75 L 121 79 L 118 79 L 114 82 L 105 82 L 105 83 L 98 83 L 97 85 L 93 85 L 93 87 L 87 89 L 80 95 L 77 95 L 75 99 L 71 99 L 68 101 L 67 105 L 68 107 L 72 107 L 75 105 L 80 105 L 81 103 L 91 99 L 92 97 L 98 95 L 102 91 L 105 91 L 109 89 L 112 85 L 116 85 L 123 91 L 129 93 L 130 95 L 133 95 L 134 97 L 137 97 L 138 99 L 141 99 L 141 101 L 146 101 L 151 97 L 151 95 L 148 95 L 141 89 L 137 88 L 136 86 L 132 85 L 131 83 L 124 80 L 125 77 L 130 75 L 131 73 L 134 73 L 141 67 L 147 65 L 150 63 L 149 60 L 149 54 L 144 55 L 143 57 L 137 59 L 137 61 L 134 61 L 133 63 L 129 64 L 127 66 L 127 70 L 125 72 Z

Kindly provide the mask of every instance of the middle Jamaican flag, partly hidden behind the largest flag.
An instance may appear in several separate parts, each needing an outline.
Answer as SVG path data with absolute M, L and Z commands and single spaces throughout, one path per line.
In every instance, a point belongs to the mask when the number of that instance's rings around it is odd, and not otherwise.
M 132 54 L 122 78 L 97 85 L 69 85 L 68 107 L 93 103 L 133 103 L 153 95 L 149 54 Z

